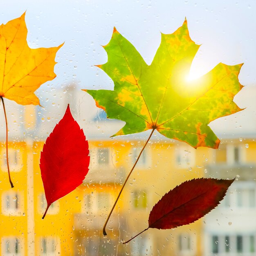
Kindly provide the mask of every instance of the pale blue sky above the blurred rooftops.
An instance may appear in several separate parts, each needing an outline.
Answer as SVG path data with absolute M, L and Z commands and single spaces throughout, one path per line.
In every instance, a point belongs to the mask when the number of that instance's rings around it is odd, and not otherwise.
M 93 65 L 107 61 L 101 45 L 109 42 L 114 26 L 150 63 L 160 43 L 160 31 L 172 33 L 182 25 L 185 16 L 191 38 L 202 44 L 191 73 L 203 74 L 219 62 L 229 65 L 245 63 L 240 72 L 240 82 L 243 85 L 256 84 L 256 1 L 9 0 L 1 1 L 0 23 L 17 18 L 26 10 L 30 47 L 51 47 L 65 41 L 57 53 L 56 79 L 45 83 L 36 92 L 43 106 L 52 101 L 65 103 L 67 94 L 63 94 L 62 99 L 54 99 L 54 88 L 61 88 L 63 84 L 78 83 L 75 90 L 81 95 L 85 94 L 79 90 L 82 88 L 113 88 L 111 79 Z M 253 127 L 255 132 L 256 91 L 252 86 L 242 91 L 236 96 L 236 102 L 241 108 L 248 107 L 247 112 L 227 117 L 225 124 L 230 126 L 227 130 L 243 125 L 243 133 L 246 133 L 247 126 Z M 90 101 L 88 97 L 85 99 Z M 95 108 L 93 101 L 89 103 Z M 90 118 L 88 111 L 84 115 L 80 106 L 77 110 L 79 118 Z M 223 126 L 221 122 L 223 120 L 216 122 L 216 129 L 220 124 Z

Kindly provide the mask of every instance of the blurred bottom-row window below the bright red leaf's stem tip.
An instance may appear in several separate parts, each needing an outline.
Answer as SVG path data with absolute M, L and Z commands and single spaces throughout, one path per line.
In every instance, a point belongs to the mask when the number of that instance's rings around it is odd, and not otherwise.
M 57 238 L 42 237 L 40 239 L 40 255 L 54 256 L 59 250 L 60 248 Z

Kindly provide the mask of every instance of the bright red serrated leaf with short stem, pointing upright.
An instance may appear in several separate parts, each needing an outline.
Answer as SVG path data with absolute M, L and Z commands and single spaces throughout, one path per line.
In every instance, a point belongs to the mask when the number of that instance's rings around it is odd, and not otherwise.
M 53 202 L 82 184 L 89 170 L 88 154 L 88 141 L 67 105 L 64 117 L 54 127 L 41 152 L 40 169 L 47 200 L 45 214 Z

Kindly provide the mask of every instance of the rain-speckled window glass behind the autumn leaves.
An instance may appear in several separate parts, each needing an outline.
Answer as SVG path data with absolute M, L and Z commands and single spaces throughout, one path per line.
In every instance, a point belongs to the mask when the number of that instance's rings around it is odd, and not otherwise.
M 255 256 L 256 3 L 252 0 L 8 0 L 1 3 L 0 24 L 25 11 L 27 43 L 31 49 L 65 43 L 55 58 L 56 77 L 35 91 L 40 106 L 22 106 L 4 98 L 13 189 L 8 183 L 5 119 L 0 102 L 0 255 Z M 110 58 L 105 46 L 113 36 L 114 27 L 150 66 L 161 37 L 173 33 L 185 17 L 189 36 L 200 45 L 189 76 L 196 79 L 218 63 L 244 63 L 239 81 L 245 86 L 233 102 L 243 111 L 210 118 L 212 121 L 206 128 L 211 128 L 220 139 L 218 149 L 195 149 L 175 136 L 169 139 L 155 130 L 110 217 L 106 227 L 108 236 L 103 236 L 102 227 L 108 213 L 150 130 L 117 136 L 125 122 L 120 116 L 108 119 L 107 110 L 97 108 L 101 103 L 95 103 L 82 89 L 113 92 L 117 86 L 101 66 Z M 5 49 L 5 40 L 0 38 L 0 47 L 4 45 Z M 0 54 L 0 63 L 5 63 L 3 54 Z M 140 63 L 139 59 L 135 63 Z M 3 72 L 1 66 L 0 77 Z M 166 72 L 161 69 L 159 73 L 161 79 L 165 79 Z M 128 92 L 140 96 L 138 92 Z M 152 92 L 152 88 L 147 88 L 148 95 Z M 161 100 L 156 95 L 153 97 Z M 214 100 L 217 103 L 218 97 Z M 40 153 L 67 104 L 88 139 L 89 172 L 80 186 L 51 205 L 42 220 L 47 202 L 40 173 Z M 139 102 L 132 104 L 139 107 Z M 176 104 L 178 102 L 167 102 L 166 113 Z M 118 108 L 112 110 L 115 112 Z M 226 108 L 221 111 L 224 113 Z M 200 112 L 201 116 L 204 114 Z M 193 129 L 197 134 L 198 130 L 202 131 L 202 125 Z M 176 127 L 175 132 L 182 131 Z M 72 146 L 76 146 L 75 143 Z M 54 166 L 52 175 L 56 175 Z M 149 213 L 165 193 L 186 180 L 201 177 L 236 177 L 236 180 L 219 206 L 204 218 L 171 230 L 148 229 L 123 244 L 148 227 Z

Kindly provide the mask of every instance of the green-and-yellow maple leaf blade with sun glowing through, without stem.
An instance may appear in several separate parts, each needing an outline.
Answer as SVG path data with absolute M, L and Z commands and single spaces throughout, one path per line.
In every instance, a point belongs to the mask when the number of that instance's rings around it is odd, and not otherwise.
M 219 63 L 210 72 L 188 81 L 200 45 L 189 36 L 186 20 L 173 34 L 162 34 L 153 62 L 147 65 L 135 47 L 114 28 L 104 46 L 108 62 L 98 65 L 114 81 L 114 90 L 85 90 L 108 118 L 125 121 L 115 135 L 154 129 L 194 148 L 218 148 L 220 140 L 208 124 L 240 109 L 233 102 L 243 85 L 242 64 Z

